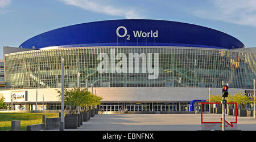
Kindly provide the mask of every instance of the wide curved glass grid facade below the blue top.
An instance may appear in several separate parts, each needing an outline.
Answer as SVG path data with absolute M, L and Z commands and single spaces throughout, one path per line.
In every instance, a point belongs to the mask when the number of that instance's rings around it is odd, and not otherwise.
M 113 46 L 32 50 L 5 54 L 6 88 L 65 87 L 253 88 L 256 54 L 244 51 Z

